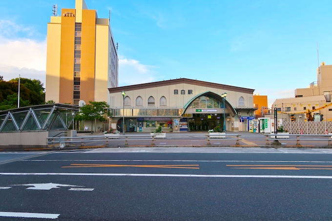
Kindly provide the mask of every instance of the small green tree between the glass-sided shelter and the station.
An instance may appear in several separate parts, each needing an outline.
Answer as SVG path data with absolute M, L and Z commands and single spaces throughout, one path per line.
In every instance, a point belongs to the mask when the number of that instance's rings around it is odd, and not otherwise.
M 108 104 L 105 101 L 89 101 L 80 108 L 80 112 L 75 116 L 77 121 L 91 121 L 91 134 L 93 128 L 93 121 L 95 119 L 105 121 L 104 115 L 109 115 L 107 110 Z

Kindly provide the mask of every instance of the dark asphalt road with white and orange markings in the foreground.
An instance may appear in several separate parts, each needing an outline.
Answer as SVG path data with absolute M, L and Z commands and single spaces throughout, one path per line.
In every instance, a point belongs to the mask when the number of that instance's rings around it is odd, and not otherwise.
M 3 154 L 0 220 L 332 220 L 332 149 Z

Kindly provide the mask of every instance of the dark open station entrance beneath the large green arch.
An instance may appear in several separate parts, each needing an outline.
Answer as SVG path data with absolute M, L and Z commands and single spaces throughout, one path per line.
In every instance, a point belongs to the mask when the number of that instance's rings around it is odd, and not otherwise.
M 193 114 L 188 120 L 190 131 L 207 131 L 216 126 L 224 126 L 223 114 Z

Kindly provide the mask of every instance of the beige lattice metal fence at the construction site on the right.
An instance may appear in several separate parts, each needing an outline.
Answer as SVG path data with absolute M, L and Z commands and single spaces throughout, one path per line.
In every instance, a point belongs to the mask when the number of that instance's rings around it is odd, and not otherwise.
M 284 130 L 288 130 L 290 134 L 326 134 L 332 133 L 332 121 L 285 121 L 283 123 Z

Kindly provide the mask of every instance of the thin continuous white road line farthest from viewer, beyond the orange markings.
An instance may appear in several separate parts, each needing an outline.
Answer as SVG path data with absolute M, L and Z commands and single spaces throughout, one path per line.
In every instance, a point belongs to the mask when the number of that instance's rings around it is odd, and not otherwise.
M 332 163 L 332 161 L 204 161 L 204 160 L 197 160 L 197 161 L 191 161 L 191 160 L 21 160 L 21 161 L 139 161 L 139 162 L 145 162 L 145 161 L 152 161 L 152 162 L 313 162 L 313 163 Z

